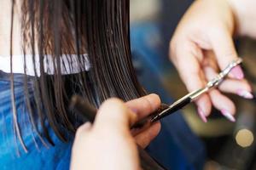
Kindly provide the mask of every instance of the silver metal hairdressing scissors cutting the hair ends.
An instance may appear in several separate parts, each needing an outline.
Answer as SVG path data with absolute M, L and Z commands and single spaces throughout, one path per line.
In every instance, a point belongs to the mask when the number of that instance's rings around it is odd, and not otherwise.
M 161 118 L 171 115 L 175 111 L 182 109 L 185 105 L 189 105 L 189 103 L 195 101 L 195 99 L 198 99 L 202 94 L 207 93 L 212 88 L 217 88 L 218 85 L 224 81 L 224 78 L 228 76 L 230 71 L 237 65 L 240 65 L 241 62 L 241 58 L 233 60 L 230 65 L 218 73 L 216 77 L 214 77 L 210 82 L 207 82 L 207 85 L 204 88 L 195 90 L 183 96 L 181 99 L 177 99 L 177 101 L 175 101 L 172 105 L 166 106 L 164 110 L 160 111 L 157 115 L 151 118 L 151 122 L 159 121 Z

